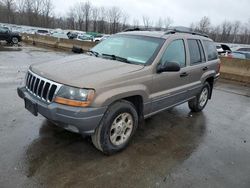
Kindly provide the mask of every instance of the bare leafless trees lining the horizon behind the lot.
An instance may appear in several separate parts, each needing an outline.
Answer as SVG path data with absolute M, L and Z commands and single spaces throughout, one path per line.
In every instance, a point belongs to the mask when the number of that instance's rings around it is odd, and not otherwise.
M 129 15 L 120 8 L 97 7 L 90 1 L 75 3 L 63 17 L 57 17 L 52 0 L 0 0 L 0 22 L 3 23 L 109 34 L 137 27 L 165 30 L 173 24 L 170 17 L 154 22 L 146 15 L 134 18 L 130 24 L 128 21 Z M 203 17 L 190 28 L 207 33 L 216 42 L 250 44 L 250 18 L 247 23 L 224 21 L 214 26 L 208 17 Z

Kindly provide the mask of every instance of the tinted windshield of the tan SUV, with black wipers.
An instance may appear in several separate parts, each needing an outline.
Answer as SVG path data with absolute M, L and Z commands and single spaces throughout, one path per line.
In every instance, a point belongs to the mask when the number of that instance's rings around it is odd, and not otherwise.
M 114 35 L 96 45 L 91 51 L 104 57 L 119 57 L 115 60 L 122 58 L 130 63 L 149 64 L 152 63 L 163 42 L 162 38 Z

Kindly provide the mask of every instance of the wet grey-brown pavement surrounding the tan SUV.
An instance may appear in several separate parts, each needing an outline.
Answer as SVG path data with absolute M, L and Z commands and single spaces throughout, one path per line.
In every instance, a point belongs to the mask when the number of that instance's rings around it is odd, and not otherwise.
M 16 94 L 30 64 L 68 55 L 0 47 L 0 187 L 250 187 L 249 86 L 220 81 L 203 113 L 184 104 L 156 115 L 107 157 Z

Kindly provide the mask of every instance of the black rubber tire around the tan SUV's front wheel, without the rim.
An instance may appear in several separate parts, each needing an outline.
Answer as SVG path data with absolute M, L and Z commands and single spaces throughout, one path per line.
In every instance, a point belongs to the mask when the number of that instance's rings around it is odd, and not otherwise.
M 115 118 L 122 113 L 129 113 L 132 116 L 133 129 L 129 139 L 125 143 L 116 146 L 113 145 L 110 141 L 110 129 Z M 137 126 L 138 126 L 138 115 L 135 110 L 135 107 L 132 104 L 119 102 L 113 105 L 102 122 L 102 129 L 100 132 L 100 144 L 103 152 L 106 154 L 112 154 L 126 148 L 129 141 L 131 140 L 131 137 L 134 135 Z

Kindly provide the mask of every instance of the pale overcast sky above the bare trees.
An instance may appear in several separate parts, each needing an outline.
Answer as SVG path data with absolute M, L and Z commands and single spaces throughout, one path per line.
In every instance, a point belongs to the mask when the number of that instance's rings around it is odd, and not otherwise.
M 53 0 L 57 15 L 65 15 L 69 7 L 81 0 Z M 82 0 L 85 2 L 84 0 Z M 148 16 L 152 21 L 159 17 L 171 17 L 173 25 L 190 26 L 203 16 L 208 16 L 212 24 L 236 21 L 247 22 L 250 19 L 250 0 L 90 0 L 94 6 L 117 6 L 133 19 L 142 22 L 142 16 Z

